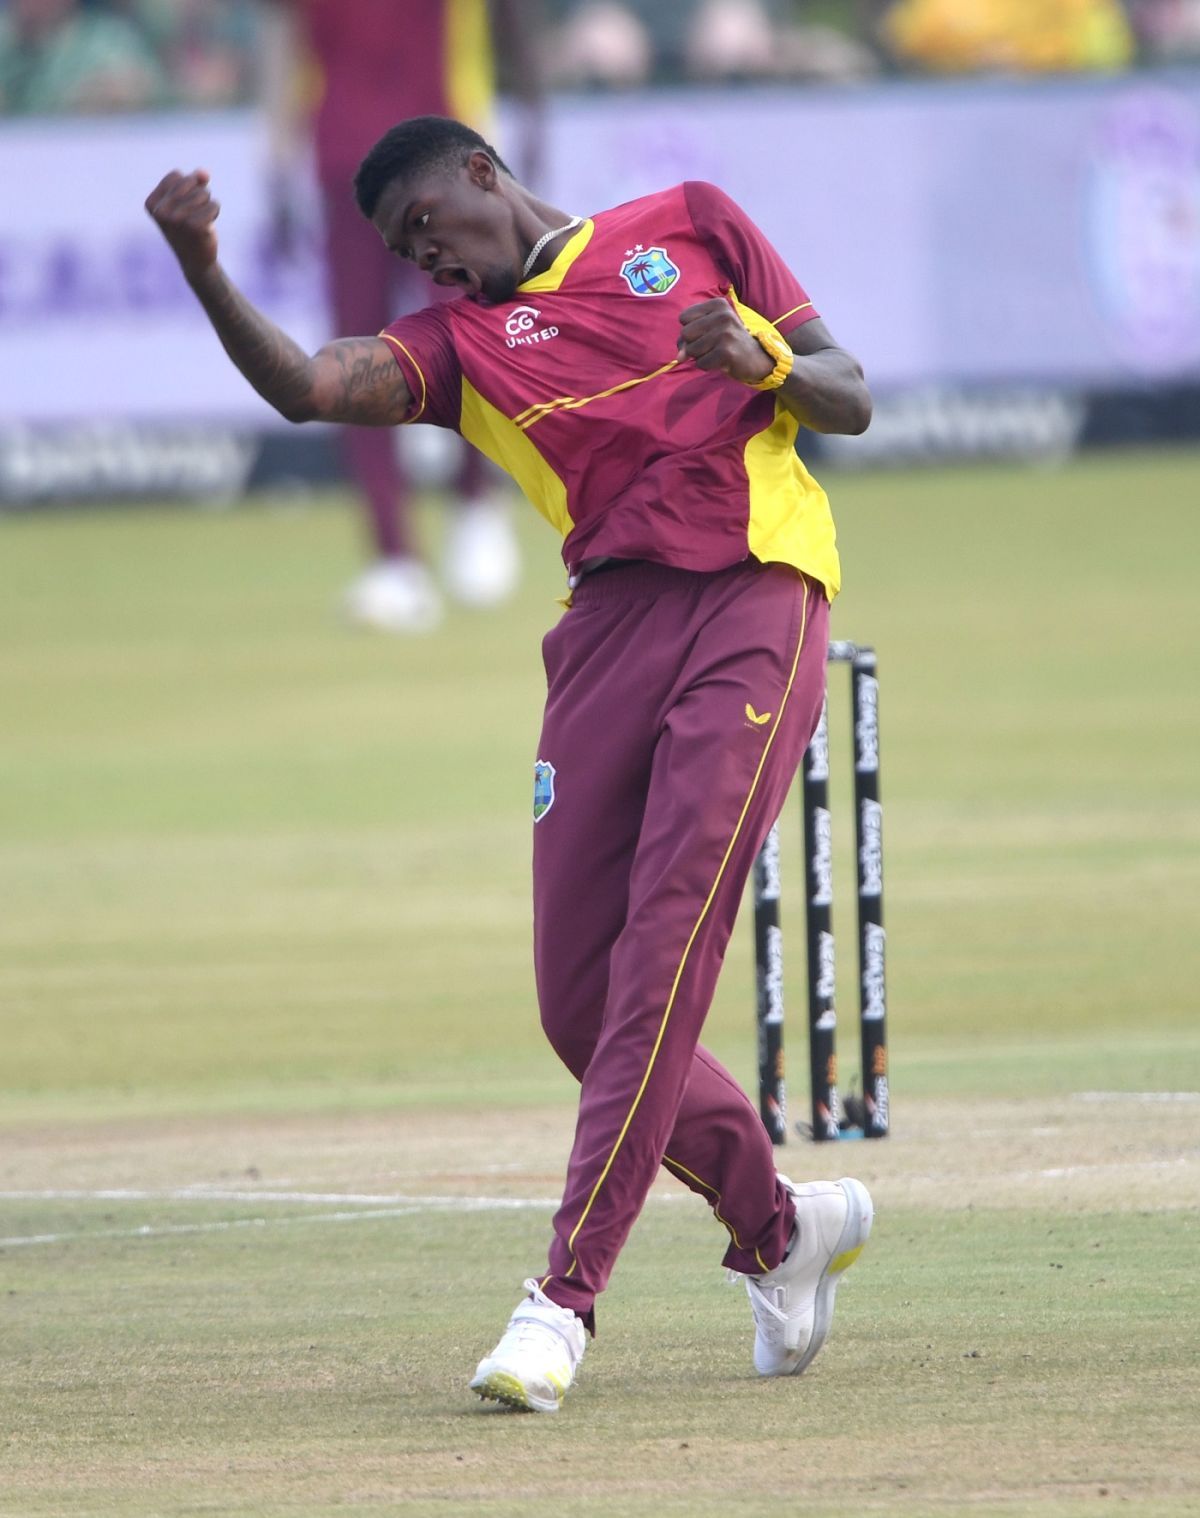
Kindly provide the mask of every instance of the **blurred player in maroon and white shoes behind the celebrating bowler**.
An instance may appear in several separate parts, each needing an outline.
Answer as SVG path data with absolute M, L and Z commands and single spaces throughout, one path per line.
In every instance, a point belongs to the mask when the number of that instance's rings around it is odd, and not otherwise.
M 311 134 L 325 216 L 334 329 L 378 332 L 435 298 L 428 281 L 390 258 L 358 214 L 352 181 L 363 155 L 407 115 L 455 115 L 487 126 L 493 35 L 514 93 L 540 100 L 540 0 L 267 0 L 264 79 L 276 162 L 276 226 L 285 244 L 290 182 Z M 316 102 L 314 109 L 306 109 Z M 526 120 L 526 153 L 537 143 Z M 526 173 L 532 165 L 522 165 Z M 445 575 L 469 606 L 490 606 L 516 586 L 510 505 L 484 458 L 461 446 Z M 411 487 L 382 431 L 347 430 L 346 465 L 363 495 L 375 563 L 346 592 L 352 621 L 385 631 L 426 631 L 441 597 L 422 559 Z

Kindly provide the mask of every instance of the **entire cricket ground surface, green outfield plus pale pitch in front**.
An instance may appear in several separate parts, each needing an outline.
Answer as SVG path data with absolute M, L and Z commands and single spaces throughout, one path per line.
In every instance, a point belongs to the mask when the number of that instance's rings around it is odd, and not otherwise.
M 1200 455 L 833 495 L 895 1132 L 787 1166 L 862 1173 L 875 1236 L 760 1384 L 664 1183 L 557 1419 L 463 1390 L 570 1140 L 528 962 L 551 534 L 513 606 L 404 642 L 332 615 L 338 510 L 0 521 L 5 1518 L 1200 1512 Z M 708 1043 L 751 1082 L 748 940 Z

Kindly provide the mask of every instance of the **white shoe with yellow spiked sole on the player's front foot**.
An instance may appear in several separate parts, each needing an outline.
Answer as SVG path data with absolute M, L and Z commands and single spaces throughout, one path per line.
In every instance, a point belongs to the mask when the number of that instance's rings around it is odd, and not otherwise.
M 584 1325 L 526 1281 L 529 1293 L 508 1319 L 504 1337 L 479 1360 L 470 1387 L 479 1397 L 532 1413 L 557 1413 L 584 1357 Z

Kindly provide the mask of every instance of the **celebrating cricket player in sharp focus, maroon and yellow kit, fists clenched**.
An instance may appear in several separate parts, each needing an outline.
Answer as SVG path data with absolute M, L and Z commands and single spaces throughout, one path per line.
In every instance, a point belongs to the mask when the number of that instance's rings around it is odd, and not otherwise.
M 293 422 L 461 433 L 563 536 L 534 765 L 542 1025 L 581 1082 L 549 1258 L 472 1387 L 555 1412 L 660 1166 L 725 1227 L 754 1365 L 796 1375 L 871 1230 L 853 1179 L 777 1175 L 699 1046 L 754 856 L 825 686 L 839 586 L 798 427 L 860 433 L 857 361 L 728 196 L 687 182 L 595 216 L 519 184 L 470 128 L 417 117 L 355 178 L 385 246 L 461 299 L 305 354 L 217 261 L 208 175 L 146 208 L 229 357 Z

